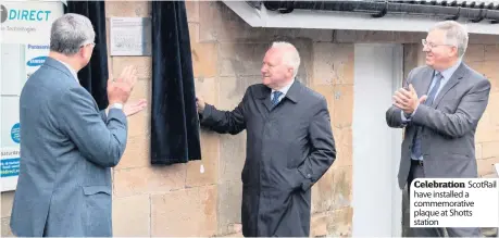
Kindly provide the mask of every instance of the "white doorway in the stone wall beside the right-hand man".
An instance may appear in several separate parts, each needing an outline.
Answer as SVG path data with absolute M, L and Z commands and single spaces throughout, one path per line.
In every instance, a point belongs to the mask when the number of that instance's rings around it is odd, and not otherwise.
M 354 48 L 352 236 L 401 236 L 402 190 L 397 174 L 402 130 L 387 126 L 386 110 L 403 77 L 403 47 Z

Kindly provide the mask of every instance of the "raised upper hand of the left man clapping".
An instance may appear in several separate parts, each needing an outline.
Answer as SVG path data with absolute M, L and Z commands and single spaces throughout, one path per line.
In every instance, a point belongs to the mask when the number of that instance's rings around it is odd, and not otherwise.
M 126 66 L 118 78 L 111 76 L 108 80 L 108 101 L 109 104 L 128 101 L 132 90 L 137 83 L 137 70 L 134 66 Z

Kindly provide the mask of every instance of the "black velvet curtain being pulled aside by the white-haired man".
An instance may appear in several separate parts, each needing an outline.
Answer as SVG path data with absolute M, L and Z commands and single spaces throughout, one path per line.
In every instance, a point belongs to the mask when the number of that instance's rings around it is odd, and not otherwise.
M 201 159 L 184 1 L 152 1 L 151 164 Z

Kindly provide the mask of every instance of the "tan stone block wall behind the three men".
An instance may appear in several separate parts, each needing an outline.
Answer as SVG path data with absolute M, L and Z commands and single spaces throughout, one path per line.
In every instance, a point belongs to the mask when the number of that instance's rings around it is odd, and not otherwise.
M 108 1 L 107 16 L 150 16 L 148 2 Z M 187 2 L 196 91 L 219 109 L 232 110 L 246 88 L 260 82 L 260 66 L 274 40 L 295 43 L 301 82 L 327 98 L 338 160 L 312 188 L 312 236 L 351 235 L 353 50 L 355 42 L 403 42 L 404 73 L 423 63 L 425 34 L 251 28 L 221 2 Z M 485 42 L 485 43 L 484 43 Z M 478 126 L 481 175 L 499 162 L 499 42 L 474 36 L 466 62 L 492 82 L 490 104 Z M 478 43 L 478 45 L 477 45 Z M 135 64 L 139 82 L 130 100 L 150 99 L 151 59 L 110 58 L 110 70 Z M 492 108 L 496 110 L 492 111 Z M 246 133 L 201 133 L 202 161 L 159 167 L 149 164 L 150 109 L 129 118 L 126 152 L 113 170 L 115 236 L 240 236 L 240 171 Z M 199 172 L 204 165 L 204 173 Z M 13 192 L 2 192 L 2 236 Z

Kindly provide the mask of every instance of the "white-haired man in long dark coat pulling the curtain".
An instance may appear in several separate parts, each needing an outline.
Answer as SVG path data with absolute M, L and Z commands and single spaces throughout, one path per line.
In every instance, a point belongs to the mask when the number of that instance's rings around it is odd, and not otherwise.
M 248 87 L 236 109 L 220 111 L 198 97 L 201 125 L 220 134 L 247 129 L 246 237 L 308 237 L 310 188 L 336 159 L 327 102 L 295 80 L 299 66 L 297 49 L 275 42 L 263 59 L 263 84 Z

